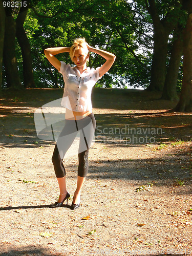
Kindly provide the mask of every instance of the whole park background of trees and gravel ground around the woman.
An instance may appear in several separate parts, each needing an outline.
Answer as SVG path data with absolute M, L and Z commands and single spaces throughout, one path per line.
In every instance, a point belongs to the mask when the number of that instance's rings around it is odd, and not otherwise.
M 192 1 L 16 3 L 0 1 L 1 255 L 190 255 Z M 55 142 L 38 139 L 33 114 L 64 87 L 44 49 L 78 37 L 116 61 L 93 89 L 99 130 L 72 212 L 50 208 Z M 76 156 L 66 165 L 72 194 Z

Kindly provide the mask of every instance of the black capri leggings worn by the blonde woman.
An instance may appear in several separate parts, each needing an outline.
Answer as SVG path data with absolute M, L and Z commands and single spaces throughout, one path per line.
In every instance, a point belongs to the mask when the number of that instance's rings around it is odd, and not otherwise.
M 66 170 L 62 160 L 73 143 L 78 131 L 80 131 L 80 140 L 78 149 L 79 165 L 77 174 L 80 177 L 87 176 L 89 167 L 88 155 L 91 142 L 94 137 L 95 128 L 96 120 L 93 113 L 79 120 L 65 120 L 65 126 L 58 137 L 52 156 L 52 162 L 57 178 L 66 176 Z

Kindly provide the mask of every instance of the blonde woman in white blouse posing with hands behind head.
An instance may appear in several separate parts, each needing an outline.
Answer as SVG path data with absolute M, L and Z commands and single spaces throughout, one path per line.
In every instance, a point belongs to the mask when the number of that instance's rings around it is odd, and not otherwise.
M 80 130 L 83 133 L 84 127 L 89 127 L 87 129 L 89 131 L 86 130 L 86 134 L 81 133 L 82 135 L 80 135 L 77 188 L 71 205 L 72 209 L 76 209 L 80 206 L 81 188 L 88 173 L 89 148 L 96 127 L 95 117 L 92 112 L 91 90 L 96 81 L 111 68 L 116 56 L 89 46 L 84 38 L 74 40 L 71 47 L 48 48 L 44 52 L 50 63 L 63 75 L 65 81 L 63 99 L 68 98 L 70 102 L 70 104 L 61 102 L 61 105 L 66 106 L 66 124 L 59 135 L 52 157 L 60 195 L 58 201 L 52 207 L 62 206 L 66 200 L 68 204 L 70 197 L 66 187 L 66 172 L 62 160 L 74 140 L 71 134 L 75 136 L 75 132 Z M 71 60 L 76 65 L 75 67 L 72 68 L 69 64 L 66 65 L 65 62 L 59 61 L 54 56 L 65 52 L 69 52 Z M 99 54 L 106 60 L 102 67 L 96 70 L 87 68 L 89 52 Z M 63 140 L 63 138 L 65 139 Z M 86 147 L 83 147 L 83 145 L 86 145 Z

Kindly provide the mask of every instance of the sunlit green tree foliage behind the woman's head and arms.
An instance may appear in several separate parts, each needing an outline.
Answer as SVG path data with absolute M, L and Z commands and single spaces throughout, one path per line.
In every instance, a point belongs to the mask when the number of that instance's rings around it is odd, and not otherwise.
M 62 76 L 44 55 L 48 47 L 71 46 L 73 40 L 85 37 L 93 47 L 110 51 L 116 61 L 110 71 L 98 80 L 96 87 L 127 86 L 146 88 L 150 83 L 153 58 L 153 20 L 147 11 L 148 1 L 126 0 L 30 0 L 24 29 L 31 46 L 33 75 L 37 88 L 62 88 Z M 169 22 L 184 27 L 186 11 L 179 0 L 155 1 L 164 25 Z M 18 10 L 13 10 L 16 19 Z M 178 19 L 179 17 L 179 19 Z M 175 34 L 172 34 L 172 38 Z M 169 45 L 172 47 L 172 38 Z M 23 83 L 22 52 L 16 41 L 20 78 Z M 59 54 L 59 60 L 71 63 L 69 54 Z M 169 58 L 167 58 L 168 63 Z M 89 66 L 100 67 L 104 59 L 91 53 Z M 4 72 L 4 69 L 3 69 Z M 5 74 L 5 73 L 4 73 Z M 178 79 L 181 88 L 182 63 Z M 3 80 L 6 88 L 6 81 Z

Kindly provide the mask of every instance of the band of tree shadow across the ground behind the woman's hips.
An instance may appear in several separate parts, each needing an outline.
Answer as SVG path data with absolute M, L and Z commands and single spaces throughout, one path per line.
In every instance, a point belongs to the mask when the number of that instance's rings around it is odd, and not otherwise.
M 40 140 L 37 137 L 33 114 L 10 114 L 1 118 L 0 138 L 4 147 L 38 147 L 49 145 L 53 140 Z M 167 113 L 133 113 L 133 114 L 95 114 L 97 126 L 95 136 L 104 136 L 101 142 L 110 143 L 108 138 L 131 136 L 135 140 L 129 144 L 146 144 L 136 137 L 155 137 L 156 142 L 165 142 L 170 138 L 175 140 L 191 139 L 192 115 L 174 115 Z M 57 131 L 55 131 L 57 132 Z M 152 141 L 153 143 L 155 142 Z M 141 142 L 141 143 L 140 143 Z

